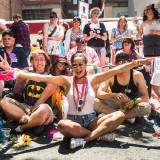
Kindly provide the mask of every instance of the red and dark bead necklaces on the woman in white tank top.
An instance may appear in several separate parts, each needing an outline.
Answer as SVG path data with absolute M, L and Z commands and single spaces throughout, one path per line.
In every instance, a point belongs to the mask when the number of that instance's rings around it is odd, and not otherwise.
M 76 102 L 76 99 L 75 99 L 75 88 L 76 88 L 78 102 Z M 84 90 L 85 90 L 85 92 L 84 92 Z M 84 107 L 85 102 L 86 102 L 87 93 L 88 93 L 88 79 L 86 77 L 84 77 L 83 85 L 82 85 L 82 92 L 80 93 L 78 90 L 78 84 L 76 81 L 76 77 L 74 77 L 74 80 L 73 80 L 73 100 L 74 100 L 75 106 L 77 108 L 77 113 L 80 112 L 82 110 L 82 108 Z M 83 96 L 84 96 L 84 99 L 83 99 Z

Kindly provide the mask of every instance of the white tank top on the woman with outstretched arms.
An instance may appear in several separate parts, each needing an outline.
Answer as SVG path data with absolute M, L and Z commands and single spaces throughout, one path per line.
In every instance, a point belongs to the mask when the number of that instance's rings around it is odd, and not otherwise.
M 73 87 L 75 87 L 73 85 L 73 77 L 71 77 L 71 81 L 72 81 L 72 85 L 70 87 L 69 92 L 67 93 L 67 99 L 68 99 L 68 103 L 69 103 L 68 114 L 84 115 L 84 114 L 90 114 L 90 113 L 94 112 L 93 104 L 94 104 L 94 99 L 95 99 L 95 91 L 93 90 L 89 81 L 88 81 L 88 92 L 87 92 L 87 95 L 86 95 L 85 104 L 84 104 L 82 110 L 78 113 L 77 113 L 77 106 L 75 105 L 74 98 L 73 98 L 73 96 L 74 96 L 73 95 Z M 78 85 L 78 91 L 80 91 L 80 93 L 81 93 L 83 84 L 77 84 L 77 85 Z M 75 100 L 76 100 L 76 103 L 77 103 L 78 98 L 77 98 L 76 88 L 75 88 Z M 83 96 L 82 100 L 84 100 L 84 96 Z

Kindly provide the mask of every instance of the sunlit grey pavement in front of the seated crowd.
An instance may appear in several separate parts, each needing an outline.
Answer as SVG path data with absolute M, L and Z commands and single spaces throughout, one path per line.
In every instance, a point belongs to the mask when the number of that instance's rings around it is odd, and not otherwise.
M 54 141 L 46 130 L 27 147 L 0 144 L 0 160 L 159 160 L 160 139 L 152 137 L 154 132 L 153 125 L 144 120 L 124 122 L 116 130 L 114 142 L 93 141 L 83 149 L 71 150 L 69 139 Z M 33 136 L 31 131 L 25 134 Z

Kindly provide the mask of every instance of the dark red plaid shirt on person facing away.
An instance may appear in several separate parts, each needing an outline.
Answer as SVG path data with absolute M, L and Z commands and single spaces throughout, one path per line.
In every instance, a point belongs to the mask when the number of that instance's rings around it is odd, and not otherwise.
M 11 31 L 15 37 L 15 44 L 21 44 L 24 49 L 31 48 L 29 27 L 22 20 L 13 23 L 11 26 Z

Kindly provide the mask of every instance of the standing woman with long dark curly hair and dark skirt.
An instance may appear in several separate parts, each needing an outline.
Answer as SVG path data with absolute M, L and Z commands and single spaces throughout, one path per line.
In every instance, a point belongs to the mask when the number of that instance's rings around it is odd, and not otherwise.
M 137 38 L 141 38 L 143 35 L 144 56 L 160 56 L 160 18 L 154 4 L 145 7 L 143 22 L 137 27 L 137 31 Z

